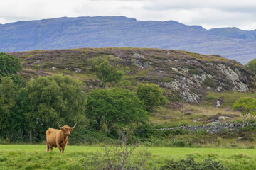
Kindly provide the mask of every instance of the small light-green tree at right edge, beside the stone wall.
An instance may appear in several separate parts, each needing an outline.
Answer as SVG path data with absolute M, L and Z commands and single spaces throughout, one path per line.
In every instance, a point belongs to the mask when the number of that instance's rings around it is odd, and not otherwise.
M 235 101 L 233 111 L 240 111 L 242 115 L 242 126 L 244 126 L 247 115 L 250 114 L 252 118 L 256 114 L 256 99 L 251 97 L 240 98 L 238 101 Z

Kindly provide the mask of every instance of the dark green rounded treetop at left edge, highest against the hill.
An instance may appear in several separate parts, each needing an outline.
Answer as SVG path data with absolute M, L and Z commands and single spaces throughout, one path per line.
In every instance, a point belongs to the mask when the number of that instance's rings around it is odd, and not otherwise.
M 18 57 L 6 53 L 0 53 L 0 76 L 11 76 L 21 70 L 21 63 Z

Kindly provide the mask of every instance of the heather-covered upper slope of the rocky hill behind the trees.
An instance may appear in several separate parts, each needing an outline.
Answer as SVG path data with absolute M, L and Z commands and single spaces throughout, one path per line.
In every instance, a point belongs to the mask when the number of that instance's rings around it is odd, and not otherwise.
M 21 59 L 25 68 L 20 74 L 26 79 L 69 74 L 89 90 L 99 87 L 100 80 L 87 60 L 100 55 L 112 56 L 112 60 L 129 67 L 131 72 L 125 77 L 131 84 L 129 89 L 134 90 L 139 82 L 155 83 L 173 91 L 177 101 L 198 102 L 206 91 L 245 92 L 254 86 L 250 74 L 235 60 L 179 50 L 80 48 L 11 54 Z

